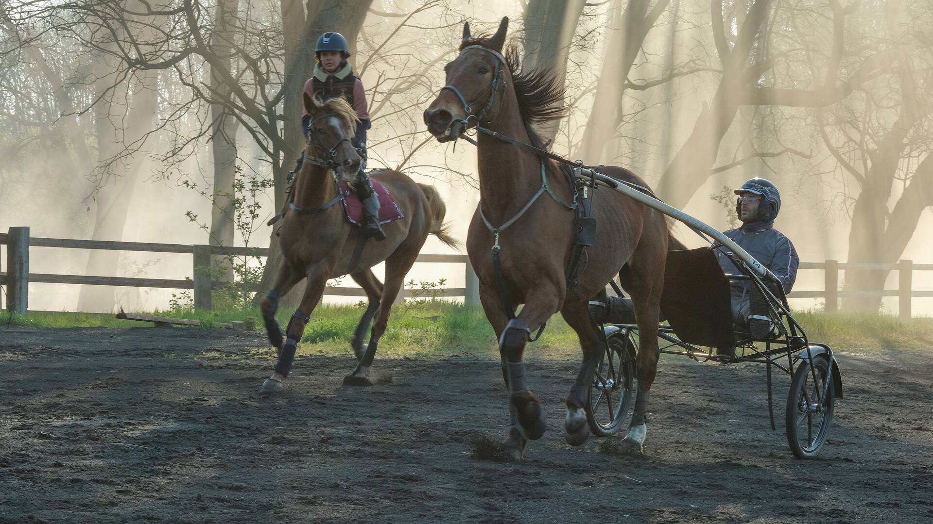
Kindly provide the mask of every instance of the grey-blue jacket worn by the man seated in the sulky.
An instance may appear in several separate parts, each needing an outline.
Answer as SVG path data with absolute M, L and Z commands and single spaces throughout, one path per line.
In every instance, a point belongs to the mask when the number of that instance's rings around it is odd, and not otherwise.
M 790 293 L 790 288 L 797 280 L 797 268 L 801 265 L 801 257 L 797 255 L 794 244 L 786 236 L 774 228 L 759 229 L 757 231 L 745 228 L 730 229 L 723 234 L 739 247 L 755 257 L 765 268 L 771 269 L 781 283 L 784 292 Z M 726 273 L 741 274 L 731 259 L 725 255 L 726 248 L 716 250 L 719 266 Z

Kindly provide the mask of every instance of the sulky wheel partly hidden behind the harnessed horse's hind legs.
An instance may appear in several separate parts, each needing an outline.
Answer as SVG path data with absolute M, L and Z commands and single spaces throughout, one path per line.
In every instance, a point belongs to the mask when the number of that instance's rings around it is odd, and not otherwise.
M 587 393 L 586 418 L 596 436 L 616 434 L 627 422 L 637 391 L 638 349 L 634 330 L 623 328 L 606 340 L 606 353 L 596 366 Z

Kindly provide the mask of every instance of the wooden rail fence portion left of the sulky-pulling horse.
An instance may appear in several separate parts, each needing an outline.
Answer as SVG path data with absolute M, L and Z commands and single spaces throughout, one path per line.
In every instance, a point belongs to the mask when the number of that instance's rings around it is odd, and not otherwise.
M 224 282 L 212 282 L 209 274 L 199 270 L 210 267 L 211 255 L 269 255 L 269 248 L 30 237 L 29 228 L 9 228 L 7 233 L 0 233 L 0 245 L 4 244 L 7 245 L 7 271 L 0 271 L 0 285 L 7 286 L 7 310 L 21 314 L 27 310 L 29 283 L 31 282 L 191 289 L 193 290 L 194 307 L 199 310 L 210 310 L 212 290 L 216 287 L 229 285 L 229 283 Z M 169 280 L 31 273 L 29 271 L 29 248 L 31 246 L 191 254 L 193 255 L 191 278 L 187 280 Z M 415 262 L 464 264 L 464 282 L 466 282 L 466 285 L 464 287 L 441 288 L 444 292 L 443 296 L 463 296 L 467 304 L 478 304 L 480 302 L 480 283 L 466 255 L 418 255 Z M 366 296 L 362 288 L 338 286 L 327 286 L 324 294 L 330 296 Z M 398 299 L 410 296 L 412 296 L 412 290 L 404 289 L 399 294 Z

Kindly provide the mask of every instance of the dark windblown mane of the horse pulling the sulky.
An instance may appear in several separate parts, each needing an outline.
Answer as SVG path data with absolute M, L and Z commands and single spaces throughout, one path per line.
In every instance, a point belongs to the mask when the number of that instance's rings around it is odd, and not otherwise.
M 487 45 L 489 38 L 488 34 L 480 34 L 463 42 L 460 50 L 467 46 L 490 48 Z M 564 117 L 567 109 L 564 104 L 564 87 L 561 86 L 557 74 L 550 68 L 522 71 L 517 44 L 510 44 L 503 56 L 506 58 L 508 73 L 512 77 L 515 97 L 519 102 L 519 114 L 522 116 L 531 145 L 543 148 L 547 144 L 536 130 L 536 125 Z

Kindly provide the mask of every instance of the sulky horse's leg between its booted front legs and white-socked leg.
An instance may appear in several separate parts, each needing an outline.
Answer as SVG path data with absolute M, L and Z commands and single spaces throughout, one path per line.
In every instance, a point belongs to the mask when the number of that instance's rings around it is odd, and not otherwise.
M 583 352 L 583 363 L 567 395 L 567 414 L 564 417 L 564 440 L 571 446 L 579 446 L 590 436 L 590 424 L 586 420 L 583 406 L 586 404 L 593 370 L 606 353 L 606 337 L 593 322 L 588 302 L 565 304 L 561 315 L 577 332 Z

